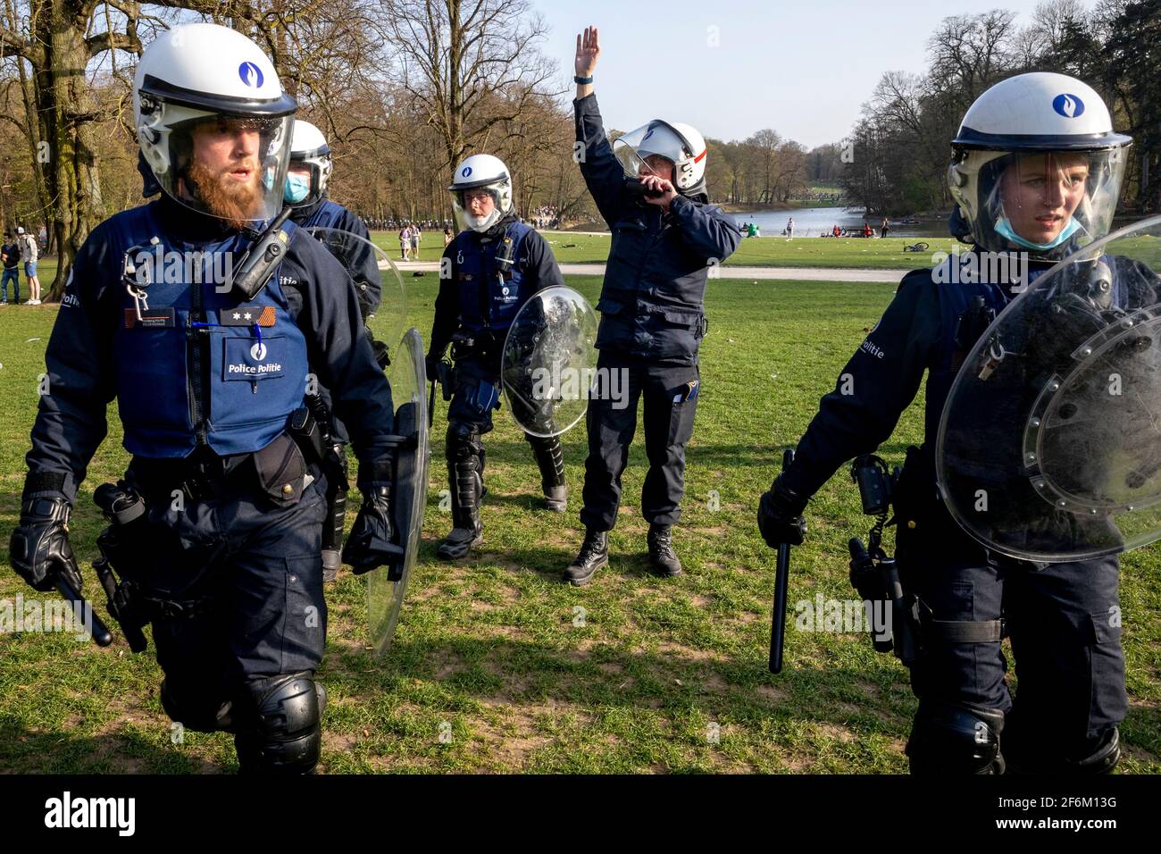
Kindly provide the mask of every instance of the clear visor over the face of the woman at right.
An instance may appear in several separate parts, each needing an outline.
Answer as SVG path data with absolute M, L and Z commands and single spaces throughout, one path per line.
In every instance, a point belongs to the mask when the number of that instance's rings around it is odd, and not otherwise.
M 1109 234 L 1124 168 L 1120 148 L 995 157 L 980 168 L 973 234 L 993 251 L 1062 258 Z

